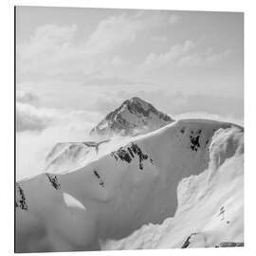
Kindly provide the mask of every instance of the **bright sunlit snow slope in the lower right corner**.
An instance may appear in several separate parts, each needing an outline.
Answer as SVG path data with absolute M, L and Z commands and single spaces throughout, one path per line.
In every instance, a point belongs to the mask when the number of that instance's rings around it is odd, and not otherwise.
M 184 178 L 178 184 L 177 197 L 174 218 L 146 225 L 119 241 L 104 241 L 101 248 L 243 246 L 244 135 L 240 129 L 215 133 L 209 168 Z

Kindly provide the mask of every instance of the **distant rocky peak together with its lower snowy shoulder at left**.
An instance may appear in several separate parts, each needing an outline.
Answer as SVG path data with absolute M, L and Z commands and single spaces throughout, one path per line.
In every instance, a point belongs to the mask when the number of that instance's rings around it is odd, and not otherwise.
M 45 172 L 57 174 L 77 169 L 98 155 L 100 148 L 104 150 L 104 143 L 109 142 L 110 138 L 113 140 L 114 136 L 149 133 L 173 121 L 152 104 L 134 97 L 124 101 L 92 129 L 91 135 L 96 136 L 94 138 L 98 138 L 98 142 L 63 142 L 55 145 L 46 156 Z

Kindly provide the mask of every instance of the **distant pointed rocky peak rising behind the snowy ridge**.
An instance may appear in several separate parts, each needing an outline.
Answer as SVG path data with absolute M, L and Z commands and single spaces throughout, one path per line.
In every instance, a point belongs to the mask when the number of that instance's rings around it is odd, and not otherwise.
M 92 129 L 91 135 L 133 136 L 154 131 L 174 120 L 137 97 L 124 101 Z

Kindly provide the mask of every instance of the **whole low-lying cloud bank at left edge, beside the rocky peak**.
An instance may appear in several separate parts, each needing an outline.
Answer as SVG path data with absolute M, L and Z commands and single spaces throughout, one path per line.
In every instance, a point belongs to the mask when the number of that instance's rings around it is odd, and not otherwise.
M 31 93 L 17 97 L 18 180 L 42 173 L 46 155 L 56 143 L 88 140 L 89 131 L 102 118 L 97 112 L 45 108 L 35 99 Z

